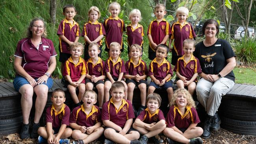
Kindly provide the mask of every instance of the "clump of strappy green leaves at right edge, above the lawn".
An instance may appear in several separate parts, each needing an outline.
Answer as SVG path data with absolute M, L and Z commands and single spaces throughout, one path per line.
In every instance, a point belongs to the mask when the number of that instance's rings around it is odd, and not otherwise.
M 256 62 L 256 41 L 255 38 L 242 39 L 235 44 L 235 53 L 238 59 L 242 62 Z

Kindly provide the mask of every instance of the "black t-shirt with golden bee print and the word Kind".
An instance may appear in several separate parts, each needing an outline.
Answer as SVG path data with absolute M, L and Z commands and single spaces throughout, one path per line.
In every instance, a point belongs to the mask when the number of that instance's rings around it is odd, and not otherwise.
M 226 59 L 236 56 L 230 44 L 223 39 L 217 39 L 211 46 L 205 46 L 201 41 L 195 47 L 193 54 L 199 59 L 202 72 L 205 74 L 218 74 L 227 65 Z M 235 81 L 233 71 L 225 78 Z

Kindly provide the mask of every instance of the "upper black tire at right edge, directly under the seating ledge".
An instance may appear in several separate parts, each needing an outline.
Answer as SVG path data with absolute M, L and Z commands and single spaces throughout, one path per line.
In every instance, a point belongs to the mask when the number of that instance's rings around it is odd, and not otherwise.
M 256 121 L 256 101 L 223 98 L 219 113 L 234 120 Z

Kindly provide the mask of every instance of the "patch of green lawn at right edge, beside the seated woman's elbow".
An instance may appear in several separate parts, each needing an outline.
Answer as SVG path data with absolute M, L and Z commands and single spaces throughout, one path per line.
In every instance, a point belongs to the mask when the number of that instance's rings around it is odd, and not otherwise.
M 256 70 L 254 68 L 246 68 L 246 67 L 235 67 L 233 70 L 236 80 L 236 83 L 249 83 L 256 85 Z

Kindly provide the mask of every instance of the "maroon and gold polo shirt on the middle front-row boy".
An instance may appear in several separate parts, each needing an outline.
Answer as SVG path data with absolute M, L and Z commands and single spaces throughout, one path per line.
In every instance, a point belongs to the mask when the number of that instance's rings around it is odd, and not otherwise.
M 101 118 L 102 120 L 110 120 L 123 128 L 126 120 L 135 118 L 132 103 L 129 100 L 122 99 L 122 105 L 117 109 L 113 98 L 111 98 L 108 102 L 104 103 Z

